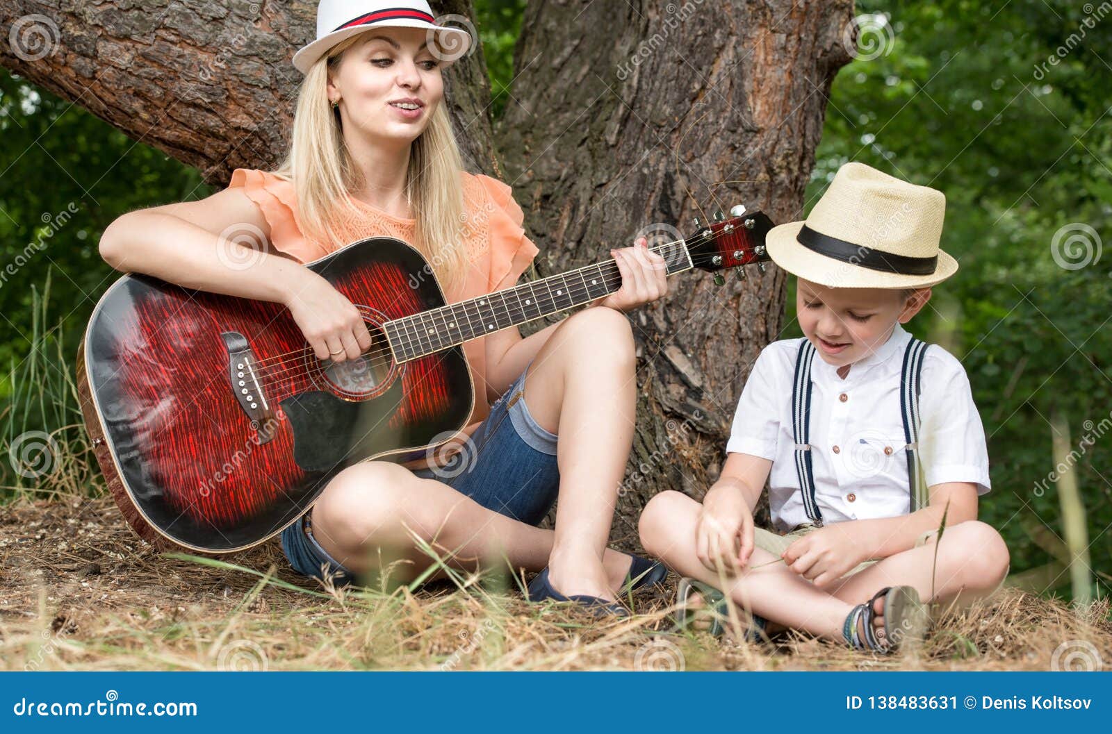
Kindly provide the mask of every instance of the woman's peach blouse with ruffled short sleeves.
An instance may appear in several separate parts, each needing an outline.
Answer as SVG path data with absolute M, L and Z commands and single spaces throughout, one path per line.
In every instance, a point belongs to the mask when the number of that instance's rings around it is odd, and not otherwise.
M 466 279 L 446 292 L 449 303 L 463 301 L 509 288 L 525 272 L 537 254 L 537 247 L 525 235 L 522 208 L 512 195 L 510 188 L 486 175 L 460 172 L 464 211 L 467 221 L 463 228 L 469 251 L 470 267 Z M 325 257 L 356 240 L 368 237 L 393 237 L 405 242 L 414 241 L 413 219 L 398 219 L 354 199 L 358 215 L 346 215 L 341 222 L 344 241 L 328 243 L 310 240 L 301 233 L 297 215 L 294 184 L 277 175 L 254 169 L 236 169 L 229 188 L 242 187 L 247 197 L 258 204 L 270 225 L 270 244 L 301 263 Z M 475 410 L 465 432 L 470 434 L 490 412 L 486 396 L 485 336 L 464 344 L 475 382 Z

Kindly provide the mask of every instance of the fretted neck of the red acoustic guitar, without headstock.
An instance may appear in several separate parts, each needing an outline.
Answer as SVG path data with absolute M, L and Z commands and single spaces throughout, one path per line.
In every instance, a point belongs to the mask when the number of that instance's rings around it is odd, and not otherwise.
M 693 267 L 683 240 L 649 248 L 664 258 L 668 275 Z M 612 258 L 576 270 L 507 288 L 467 301 L 449 303 L 383 324 L 394 354 L 408 362 L 456 344 L 566 311 L 614 293 L 622 273 Z

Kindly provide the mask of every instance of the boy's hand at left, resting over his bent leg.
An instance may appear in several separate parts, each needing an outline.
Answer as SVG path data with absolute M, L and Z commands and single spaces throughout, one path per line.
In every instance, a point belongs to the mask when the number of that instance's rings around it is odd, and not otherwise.
M 753 514 L 736 484 L 715 484 L 695 525 L 695 553 L 715 573 L 739 572 L 753 554 Z

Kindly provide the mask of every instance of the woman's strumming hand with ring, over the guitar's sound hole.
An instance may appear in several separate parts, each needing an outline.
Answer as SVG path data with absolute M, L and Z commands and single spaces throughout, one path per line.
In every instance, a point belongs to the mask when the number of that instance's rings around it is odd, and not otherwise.
M 370 349 L 367 324 L 351 301 L 311 270 L 301 274 L 285 303 L 317 359 L 342 362 Z

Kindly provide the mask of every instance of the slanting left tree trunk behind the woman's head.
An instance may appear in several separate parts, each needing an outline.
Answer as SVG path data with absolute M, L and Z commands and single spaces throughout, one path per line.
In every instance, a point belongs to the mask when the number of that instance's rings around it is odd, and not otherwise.
M 433 3 L 470 17 L 470 0 Z M 0 66 L 226 185 L 286 152 L 316 30 L 312 0 L 0 0 Z M 447 101 L 475 172 L 494 173 L 483 50 L 447 71 Z

